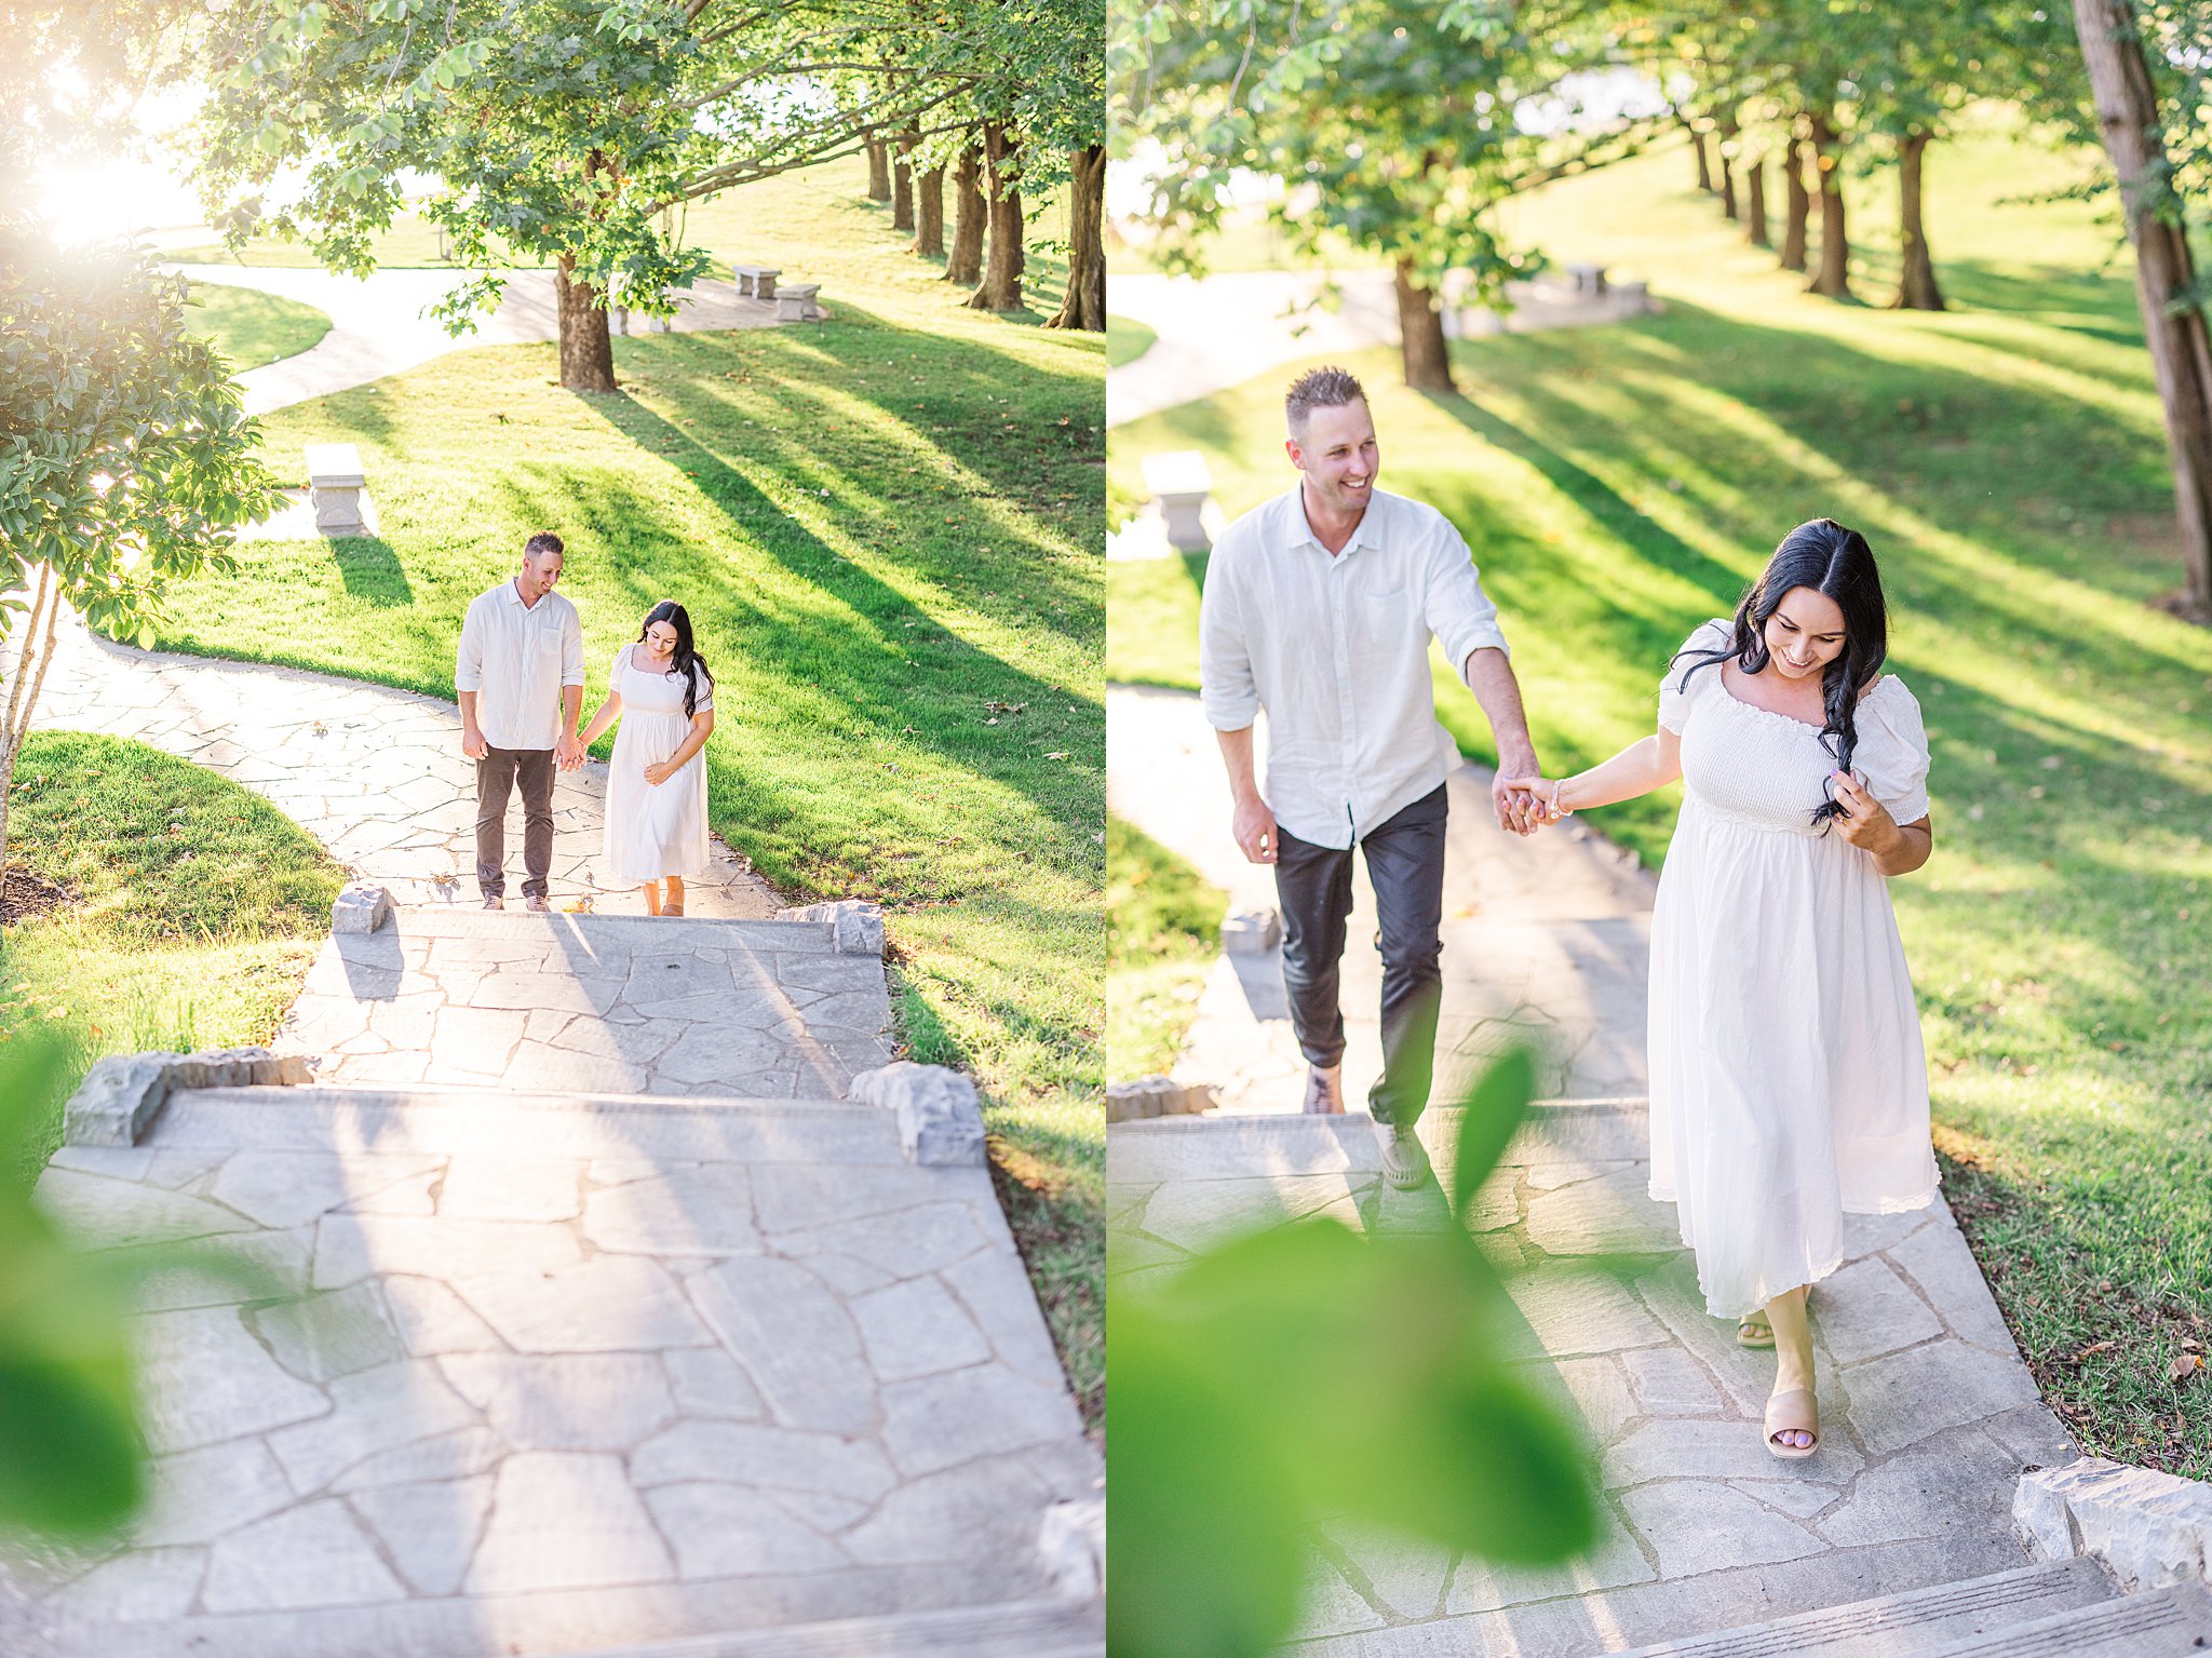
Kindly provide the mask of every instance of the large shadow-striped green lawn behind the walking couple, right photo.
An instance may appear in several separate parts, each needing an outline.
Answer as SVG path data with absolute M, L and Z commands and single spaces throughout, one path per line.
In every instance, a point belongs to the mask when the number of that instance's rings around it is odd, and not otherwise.
M 1792 524 L 1869 535 L 1936 756 L 1936 860 L 1891 891 L 1951 1198 L 2084 1444 L 2205 1477 L 2212 1386 L 2170 1366 L 2212 1315 L 2212 632 L 2157 608 L 2181 573 L 2128 261 L 2088 208 L 2000 206 L 2084 161 L 1982 133 L 1929 166 L 1955 312 L 1805 296 L 1668 146 L 1515 210 L 1666 316 L 1458 345 L 1451 398 L 1409 393 L 1396 351 L 1347 367 L 1385 486 L 1473 544 L 1553 774 L 1650 732 L 1668 652 Z M 1891 223 L 1858 212 L 1869 301 Z M 1283 489 L 1296 367 L 1117 429 L 1117 502 L 1157 449 L 1203 449 L 1232 513 Z M 1110 676 L 1194 683 L 1201 575 L 1110 566 Z M 1590 822 L 1657 860 L 1677 800 Z

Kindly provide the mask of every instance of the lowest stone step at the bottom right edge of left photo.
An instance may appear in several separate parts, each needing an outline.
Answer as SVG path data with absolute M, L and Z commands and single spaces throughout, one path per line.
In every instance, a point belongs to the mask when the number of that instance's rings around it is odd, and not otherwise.
M 595 1647 L 564 1658 L 1097 1658 L 1104 1649 L 1099 1601 L 1020 1601 Z

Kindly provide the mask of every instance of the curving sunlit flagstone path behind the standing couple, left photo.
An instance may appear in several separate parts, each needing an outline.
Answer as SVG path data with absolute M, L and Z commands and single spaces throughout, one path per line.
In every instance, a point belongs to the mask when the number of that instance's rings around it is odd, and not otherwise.
M 137 738 L 243 783 L 400 904 L 478 902 L 476 765 L 451 703 L 299 668 L 133 650 L 71 621 L 38 723 Z M 555 780 L 553 902 L 639 915 L 635 886 L 604 889 L 593 871 L 604 800 L 604 760 Z M 774 915 L 768 882 L 712 844 L 710 871 L 686 882 L 686 913 Z M 520 906 L 520 798 L 507 814 L 507 902 Z

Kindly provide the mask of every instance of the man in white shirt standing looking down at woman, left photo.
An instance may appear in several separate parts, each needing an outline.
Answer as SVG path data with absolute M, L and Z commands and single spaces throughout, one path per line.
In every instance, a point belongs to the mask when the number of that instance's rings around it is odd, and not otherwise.
M 562 542 L 533 535 L 513 579 L 469 601 L 453 690 L 460 752 L 476 760 L 476 884 L 484 909 L 507 893 L 507 798 L 522 785 L 522 895 L 551 909 L 553 769 L 584 765 L 584 623 L 553 592 Z

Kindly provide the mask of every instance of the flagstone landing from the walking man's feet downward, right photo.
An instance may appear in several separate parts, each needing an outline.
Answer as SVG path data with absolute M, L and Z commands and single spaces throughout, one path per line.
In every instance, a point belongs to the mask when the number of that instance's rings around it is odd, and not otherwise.
M 1447 1172 L 1455 1116 L 1422 1121 Z M 1761 1444 L 1774 1360 L 1703 1311 L 1644 1158 L 1637 1105 L 1540 1108 L 1464 1216 L 1522 1269 L 1524 1351 L 1548 1360 L 1531 1375 L 1588 1424 L 1604 1545 L 1533 1572 L 1329 1528 L 1294 1651 L 1582 1658 L 2026 1565 L 2013 1486 L 2077 1450 L 1949 1211 L 1851 1218 L 1843 1271 L 1814 1289 L 1823 1448 L 1783 1463 Z M 1380 1183 L 1363 1114 L 1117 1123 L 1106 1169 L 1108 1293 L 1243 1227 L 1447 1225 L 1438 1192 Z M 1599 1253 L 1635 1271 L 1606 1278 Z

